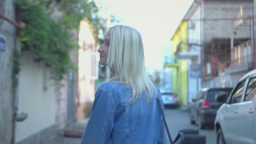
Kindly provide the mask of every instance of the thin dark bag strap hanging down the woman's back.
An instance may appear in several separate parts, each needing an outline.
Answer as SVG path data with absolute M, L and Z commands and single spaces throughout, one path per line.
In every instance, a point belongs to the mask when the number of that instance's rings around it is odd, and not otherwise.
M 177 135 L 177 137 L 175 138 L 175 140 L 172 141 L 172 139 L 171 139 L 171 134 L 170 134 L 170 131 L 169 131 L 169 129 L 168 129 L 168 126 L 167 126 L 167 123 L 166 123 L 166 120 L 165 120 L 165 117 L 164 117 L 164 111 L 163 111 L 163 108 L 162 108 L 162 106 L 161 106 L 161 102 L 160 102 L 160 100 L 159 100 L 158 95 L 157 95 L 157 101 L 158 101 L 158 104 L 159 104 L 159 107 L 160 107 L 161 115 L 162 115 L 163 120 L 164 120 L 164 125 L 165 125 L 165 128 L 166 128 L 166 131 L 167 131 L 167 134 L 168 134 L 170 143 L 171 143 L 171 144 L 175 144 L 175 143 L 181 138 L 181 144 L 182 144 L 183 141 L 184 141 L 184 134 L 183 134 L 183 133 L 179 133 L 179 134 Z

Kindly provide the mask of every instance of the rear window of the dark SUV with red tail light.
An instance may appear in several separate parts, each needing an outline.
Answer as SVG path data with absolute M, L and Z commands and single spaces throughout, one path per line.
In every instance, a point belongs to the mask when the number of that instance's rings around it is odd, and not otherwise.
M 207 92 L 206 101 L 207 102 L 216 102 L 215 97 L 217 94 L 224 94 L 227 97 L 230 95 L 232 89 L 216 89 L 216 90 L 210 90 Z

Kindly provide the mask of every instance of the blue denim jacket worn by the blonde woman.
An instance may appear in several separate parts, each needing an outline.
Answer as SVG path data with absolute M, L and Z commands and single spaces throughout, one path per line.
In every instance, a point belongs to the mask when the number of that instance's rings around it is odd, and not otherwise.
M 158 88 L 157 91 L 164 110 Z M 151 102 L 143 92 L 130 104 L 131 92 L 125 84 L 105 82 L 100 85 L 81 144 L 166 144 L 155 93 Z

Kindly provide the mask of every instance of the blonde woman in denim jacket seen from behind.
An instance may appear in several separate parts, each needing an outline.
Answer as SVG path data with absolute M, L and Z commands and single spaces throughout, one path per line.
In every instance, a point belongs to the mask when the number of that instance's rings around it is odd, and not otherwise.
M 113 26 L 98 49 L 113 78 L 99 86 L 81 144 L 165 144 L 161 93 L 146 75 L 141 34 Z M 162 103 L 162 108 L 163 103 Z

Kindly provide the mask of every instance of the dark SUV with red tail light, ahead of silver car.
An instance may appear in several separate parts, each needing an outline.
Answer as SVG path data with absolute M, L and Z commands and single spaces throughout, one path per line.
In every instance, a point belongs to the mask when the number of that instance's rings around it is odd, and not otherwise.
M 190 124 L 198 124 L 200 129 L 213 125 L 218 108 L 224 102 L 217 102 L 215 96 L 219 93 L 229 95 L 232 88 L 203 88 L 190 105 Z

